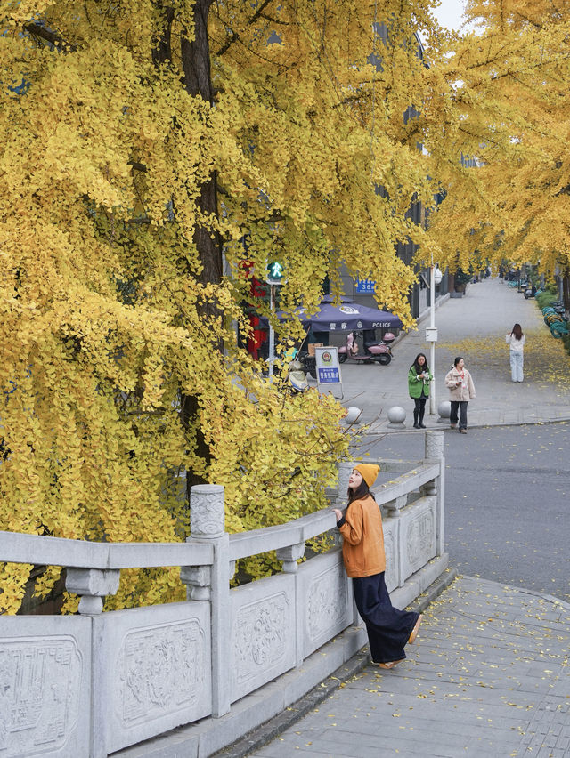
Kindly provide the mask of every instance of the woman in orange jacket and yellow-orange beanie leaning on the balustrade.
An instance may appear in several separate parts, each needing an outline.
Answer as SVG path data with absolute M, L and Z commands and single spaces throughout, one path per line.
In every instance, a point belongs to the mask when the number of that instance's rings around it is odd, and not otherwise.
M 421 616 L 394 608 L 384 581 L 386 554 L 379 505 L 370 488 L 379 472 L 374 464 L 358 464 L 348 480 L 348 505 L 343 515 L 335 508 L 343 536 L 342 557 L 353 580 L 354 600 L 366 624 L 372 661 L 394 668 L 405 657 L 403 649 L 418 634 Z

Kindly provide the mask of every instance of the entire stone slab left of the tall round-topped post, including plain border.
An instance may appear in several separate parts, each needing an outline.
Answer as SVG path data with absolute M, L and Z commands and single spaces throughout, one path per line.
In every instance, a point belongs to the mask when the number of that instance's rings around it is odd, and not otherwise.
M 208 603 L 114 610 L 102 624 L 108 753 L 212 713 Z

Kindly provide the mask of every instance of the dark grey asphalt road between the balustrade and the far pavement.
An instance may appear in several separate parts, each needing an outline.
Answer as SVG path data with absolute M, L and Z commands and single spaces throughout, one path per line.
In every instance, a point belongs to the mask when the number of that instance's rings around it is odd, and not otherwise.
M 460 574 L 570 601 L 570 423 L 444 434 L 445 545 Z M 387 434 L 371 459 L 423 456 L 423 434 Z

